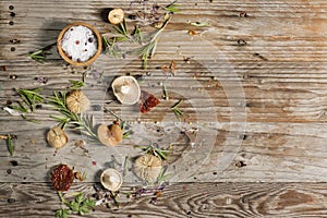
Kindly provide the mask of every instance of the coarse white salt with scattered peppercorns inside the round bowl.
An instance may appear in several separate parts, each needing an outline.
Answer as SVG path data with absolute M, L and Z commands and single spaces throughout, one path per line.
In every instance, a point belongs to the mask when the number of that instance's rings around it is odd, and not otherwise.
M 61 48 L 73 61 L 85 62 L 97 52 L 98 43 L 85 26 L 72 26 L 61 39 Z

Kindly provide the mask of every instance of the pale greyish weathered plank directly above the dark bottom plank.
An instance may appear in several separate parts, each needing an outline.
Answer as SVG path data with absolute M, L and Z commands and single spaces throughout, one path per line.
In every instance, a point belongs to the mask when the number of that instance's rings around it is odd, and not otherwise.
M 2 131 L 10 132 L 16 125 L 8 122 Z M 326 181 L 327 133 L 323 123 L 247 123 L 246 132 L 242 132 L 242 125 L 228 122 L 204 125 L 136 122 L 132 124 L 135 134 L 114 148 L 92 144 L 81 133 L 69 131 L 70 143 L 56 156 L 44 136 L 52 124 L 35 124 L 33 130 L 32 125 L 22 126 L 11 132 L 19 137 L 13 157 L 9 156 L 5 142 L 1 142 L 2 182 L 48 181 L 52 167 L 60 162 L 86 171 L 88 182 L 98 181 L 99 172 L 108 167 L 122 171 L 125 156 L 140 155 L 132 146 L 148 145 L 149 141 L 161 147 L 172 145 L 168 169 L 173 182 Z M 88 153 L 74 146 L 81 138 L 86 140 Z M 13 166 L 12 160 L 19 166 Z M 125 181 L 140 183 L 130 170 Z

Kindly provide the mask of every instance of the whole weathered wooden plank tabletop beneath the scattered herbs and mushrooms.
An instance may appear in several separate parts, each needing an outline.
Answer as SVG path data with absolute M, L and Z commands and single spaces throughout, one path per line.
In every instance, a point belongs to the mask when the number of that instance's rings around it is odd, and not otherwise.
M 97 206 L 86 217 L 318 217 L 326 215 L 327 138 L 327 4 L 324 0 L 179 1 L 180 12 L 160 35 L 148 68 L 138 57 L 102 53 L 89 68 L 68 65 L 50 49 L 45 63 L 26 53 L 56 43 L 69 23 L 84 21 L 101 34 L 112 31 L 109 8 L 126 15 L 150 12 L 153 1 L 2 0 L 0 2 L 0 102 L 19 100 L 14 88 L 41 87 L 49 97 L 66 90 L 69 80 L 85 74 L 97 123 L 116 120 L 133 130 L 117 147 L 93 144 L 68 129 L 69 144 L 55 153 L 46 142 L 56 125 L 50 106 L 28 118 L 1 110 L 0 133 L 14 134 L 11 157 L 5 141 L 0 150 L 0 217 L 53 217 L 60 208 L 49 174 L 68 164 L 86 171 L 70 192 L 88 196 L 106 168 L 126 169 L 121 207 Z M 167 5 L 169 1 L 156 1 Z M 132 31 L 142 19 L 128 16 Z M 198 22 L 198 23 L 196 23 Z M 208 26 L 198 26 L 208 23 Z M 194 24 L 197 24 L 194 25 Z M 190 32 L 191 31 L 191 32 Z M 175 61 L 171 73 L 162 66 Z M 104 72 L 101 80 L 92 72 Z M 116 76 L 135 76 L 142 89 L 160 104 L 148 113 L 122 106 L 110 84 Z M 47 78 L 45 83 L 41 78 Z M 162 98 L 167 87 L 169 99 Z M 182 120 L 171 107 L 182 99 Z M 86 141 L 85 149 L 74 144 Z M 128 198 L 143 185 L 125 166 L 141 150 L 134 145 L 169 147 L 169 179 L 157 204 L 154 193 Z M 86 150 L 87 149 L 87 150 Z M 128 158 L 129 159 L 129 158 Z M 132 164 L 132 162 L 130 162 Z M 124 167 L 125 166 L 125 167 Z M 150 190 L 154 186 L 148 186 Z M 72 215 L 71 217 L 77 217 Z

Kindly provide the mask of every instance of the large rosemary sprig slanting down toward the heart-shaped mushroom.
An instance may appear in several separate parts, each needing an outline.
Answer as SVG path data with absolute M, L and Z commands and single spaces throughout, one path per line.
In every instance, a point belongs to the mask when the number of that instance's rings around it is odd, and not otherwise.
M 71 112 L 66 105 L 66 93 L 65 92 L 53 92 L 53 96 L 49 98 L 49 104 L 53 106 L 53 109 L 61 113 L 59 116 L 51 116 L 56 121 L 58 121 L 62 129 L 64 129 L 69 123 L 75 125 L 75 130 L 80 130 L 85 135 L 97 140 L 97 134 L 94 131 L 94 119 L 93 116 L 87 114 L 75 114 Z

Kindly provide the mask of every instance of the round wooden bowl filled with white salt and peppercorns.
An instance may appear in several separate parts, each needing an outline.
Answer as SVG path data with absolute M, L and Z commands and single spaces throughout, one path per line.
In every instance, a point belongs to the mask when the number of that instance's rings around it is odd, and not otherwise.
M 101 35 L 92 25 L 75 22 L 60 32 L 57 48 L 61 58 L 70 64 L 89 65 L 101 53 Z

